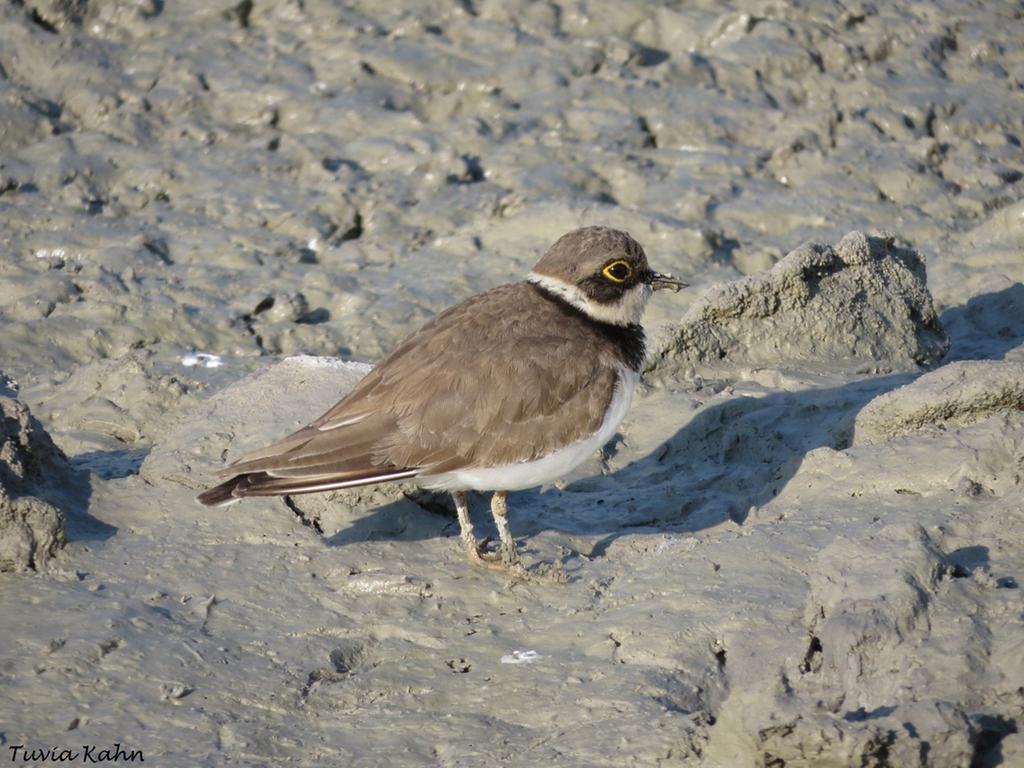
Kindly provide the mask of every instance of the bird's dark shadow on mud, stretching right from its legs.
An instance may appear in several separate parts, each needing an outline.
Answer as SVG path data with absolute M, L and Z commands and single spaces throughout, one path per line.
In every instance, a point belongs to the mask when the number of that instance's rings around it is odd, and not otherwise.
M 583 554 L 596 558 L 623 536 L 742 524 L 779 494 L 808 452 L 847 447 L 860 409 L 915 376 L 717 402 L 613 472 L 526 495 L 518 531 L 579 536 L 589 547 Z

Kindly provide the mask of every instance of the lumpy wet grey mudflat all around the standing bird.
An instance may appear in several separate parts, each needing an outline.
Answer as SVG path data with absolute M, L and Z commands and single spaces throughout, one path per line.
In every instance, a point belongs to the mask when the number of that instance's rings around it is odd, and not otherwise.
M 1022 28 L 0 4 L 0 746 L 1024 765 Z M 511 497 L 567 584 L 474 570 L 401 488 L 194 503 L 593 223 L 693 287 L 616 441 Z

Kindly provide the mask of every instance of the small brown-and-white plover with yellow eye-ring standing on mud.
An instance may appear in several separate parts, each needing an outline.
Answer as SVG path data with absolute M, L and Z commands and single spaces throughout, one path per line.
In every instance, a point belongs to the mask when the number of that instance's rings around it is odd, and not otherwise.
M 450 492 L 474 565 L 523 571 L 508 493 L 550 483 L 616 433 L 643 368 L 652 270 L 629 233 L 563 234 L 525 280 L 472 296 L 399 343 L 308 426 L 220 470 L 207 506 L 411 481 Z M 497 551 L 468 492 L 492 492 Z

